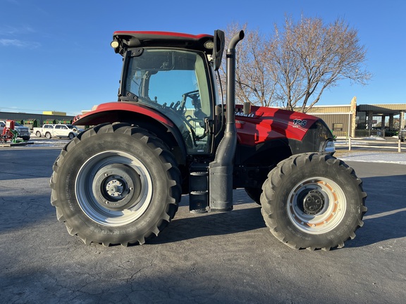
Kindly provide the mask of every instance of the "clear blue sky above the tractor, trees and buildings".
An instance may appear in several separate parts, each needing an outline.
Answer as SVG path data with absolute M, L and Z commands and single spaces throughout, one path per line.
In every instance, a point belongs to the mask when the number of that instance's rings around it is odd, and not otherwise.
M 406 1 L 0 0 L 0 111 L 78 115 L 117 100 L 116 30 L 212 34 L 230 23 L 271 33 L 285 15 L 342 18 L 367 49 L 366 86 L 340 82 L 319 106 L 406 103 Z

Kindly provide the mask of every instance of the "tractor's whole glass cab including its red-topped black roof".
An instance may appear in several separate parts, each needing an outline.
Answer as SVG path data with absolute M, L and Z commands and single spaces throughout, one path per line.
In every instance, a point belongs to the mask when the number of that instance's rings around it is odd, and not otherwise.
M 116 32 L 111 45 L 123 55 L 118 101 L 153 108 L 179 129 L 187 155 L 213 152 L 213 36 Z M 135 38 L 136 37 L 136 38 Z

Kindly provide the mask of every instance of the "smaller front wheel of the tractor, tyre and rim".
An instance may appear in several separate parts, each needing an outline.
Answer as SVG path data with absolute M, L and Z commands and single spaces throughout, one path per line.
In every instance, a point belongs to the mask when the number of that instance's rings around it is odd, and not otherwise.
M 262 187 L 262 215 L 280 241 L 300 249 L 343 247 L 361 227 L 367 194 L 351 167 L 307 153 L 283 160 Z

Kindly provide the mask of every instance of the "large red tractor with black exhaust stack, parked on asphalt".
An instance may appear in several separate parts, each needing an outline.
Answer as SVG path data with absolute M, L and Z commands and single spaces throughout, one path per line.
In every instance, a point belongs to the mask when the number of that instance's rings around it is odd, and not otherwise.
M 279 108 L 235 105 L 235 46 L 226 50 L 226 104 L 216 71 L 224 33 L 115 32 L 123 56 L 118 102 L 75 125 L 54 163 L 51 203 L 71 235 L 105 246 L 144 243 L 173 219 L 182 194 L 190 211 L 233 209 L 244 188 L 271 232 L 292 248 L 342 247 L 355 237 L 367 194 L 333 157 L 324 121 Z M 217 73 L 218 75 L 218 73 Z

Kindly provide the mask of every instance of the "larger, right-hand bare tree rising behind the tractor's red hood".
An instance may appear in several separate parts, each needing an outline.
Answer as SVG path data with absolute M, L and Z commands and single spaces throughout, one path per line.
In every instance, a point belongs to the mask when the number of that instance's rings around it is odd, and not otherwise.
M 288 110 L 306 112 L 340 80 L 366 84 L 371 78 L 363 68 L 366 50 L 357 30 L 341 19 L 324 25 L 320 18 L 302 18 L 298 23 L 286 18 L 283 31 L 275 25 L 271 41 L 266 63 L 278 67 L 278 98 Z

